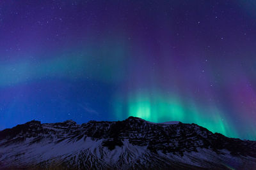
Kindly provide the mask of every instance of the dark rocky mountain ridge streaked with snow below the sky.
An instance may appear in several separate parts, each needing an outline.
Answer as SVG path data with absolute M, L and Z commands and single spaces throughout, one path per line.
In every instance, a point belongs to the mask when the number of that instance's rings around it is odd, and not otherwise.
M 0 131 L 0 169 L 256 169 L 256 141 L 196 124 L 31 121 Z

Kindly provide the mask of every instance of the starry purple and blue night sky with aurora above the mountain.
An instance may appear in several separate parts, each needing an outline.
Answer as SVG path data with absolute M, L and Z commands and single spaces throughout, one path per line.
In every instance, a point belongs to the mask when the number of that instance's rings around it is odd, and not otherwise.
M 195 123 L 256 140 L 256 1 L 0 1 L 0 129 Z

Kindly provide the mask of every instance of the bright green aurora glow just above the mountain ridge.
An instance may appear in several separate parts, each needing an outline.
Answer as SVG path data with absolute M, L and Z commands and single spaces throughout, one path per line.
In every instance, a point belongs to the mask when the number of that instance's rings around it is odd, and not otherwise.
M 126 102 L 120 102 L 122 100 L 118 97 L 118 101 L 115 102 L 114 112 L 119 120 L 132 116 L 156 123 L 168 121 L 195 123 L 211 132 L 238 138 L 234 126 L 216 106 L 198 106 L 193 101 L 182 101 L 178 96 L 161 92 L 137 92 L 127 98 Z

